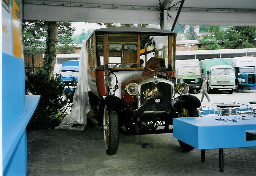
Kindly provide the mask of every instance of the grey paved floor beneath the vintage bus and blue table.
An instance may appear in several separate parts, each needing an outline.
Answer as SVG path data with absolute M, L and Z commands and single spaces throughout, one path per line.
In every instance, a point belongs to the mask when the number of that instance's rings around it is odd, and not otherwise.
M 62 129 L 27 133 L 28 176 L 82 175 L 256 175 L 256 147 L 224 149 L 224 172 L 219 172 L 217 150 L 183 153 L 177 139 L 169 134 L 120 135 L 118 151 L 107 155 L 99 127 L 84 131 Z

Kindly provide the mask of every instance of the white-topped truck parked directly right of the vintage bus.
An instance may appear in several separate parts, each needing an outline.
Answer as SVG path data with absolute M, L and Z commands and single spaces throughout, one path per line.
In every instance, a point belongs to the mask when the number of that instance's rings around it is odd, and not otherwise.
M 191 93 L 199 92 L 201 87 L 199 60 L 176 60 L 175 67 L 177 83 L 185 82 L 189 85 L 189 91 Z

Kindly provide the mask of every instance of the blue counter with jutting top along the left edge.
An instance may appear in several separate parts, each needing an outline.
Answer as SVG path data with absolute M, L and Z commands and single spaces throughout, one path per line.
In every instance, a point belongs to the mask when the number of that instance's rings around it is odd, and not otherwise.
M 26 126 L 39 102 L 40 95 L 25 95 L 24 114 L 3 126 L 3 175 L 26 175 Z

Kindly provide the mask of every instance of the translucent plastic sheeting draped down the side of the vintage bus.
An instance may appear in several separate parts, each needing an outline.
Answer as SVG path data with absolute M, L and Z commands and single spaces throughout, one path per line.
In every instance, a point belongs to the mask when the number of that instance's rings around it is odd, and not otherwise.
M 87 62 L 86 42 L 84 42 L 80 53 L 78 83 L 73 97 L 72 110 L 55 129 L 83 130 L 86 127 L 87 114 L 90 111 Z

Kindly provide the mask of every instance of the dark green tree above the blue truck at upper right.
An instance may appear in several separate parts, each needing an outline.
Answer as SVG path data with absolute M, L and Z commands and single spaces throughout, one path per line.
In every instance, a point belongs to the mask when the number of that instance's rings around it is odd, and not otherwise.
M 226 32 L 225 45 L 231 48 L 253 48 L 256 46 L 256 27 L 231 26 Z

